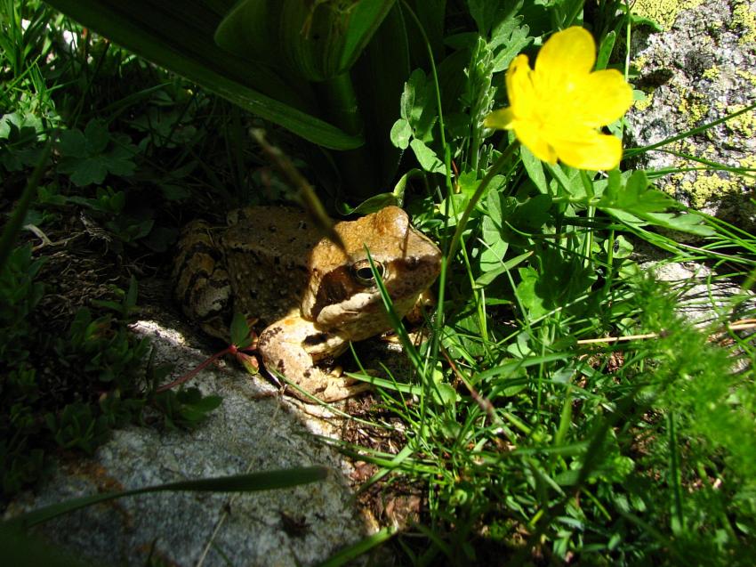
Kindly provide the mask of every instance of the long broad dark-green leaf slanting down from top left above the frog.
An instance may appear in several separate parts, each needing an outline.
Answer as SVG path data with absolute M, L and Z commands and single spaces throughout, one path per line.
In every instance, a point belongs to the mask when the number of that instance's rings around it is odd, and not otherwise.
M 334 150 L 353 150 L 364 143 L 362 136 L 345 134 L 315 116 L 318 107 L 310 85 L 287 84 L 286 77 L 270 70 L 276 61 L 258 61 L 251 66 L 215 44 L 213 35 L 229 2 L 51 0 L 49 4 L 305 140 Z

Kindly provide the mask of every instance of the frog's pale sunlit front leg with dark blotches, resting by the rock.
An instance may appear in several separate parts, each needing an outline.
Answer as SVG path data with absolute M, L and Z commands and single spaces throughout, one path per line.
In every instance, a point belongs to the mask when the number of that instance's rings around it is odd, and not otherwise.
M 319 400 L 339 401 L 370 387 L 348 378 L 334 377 L 318 368 L 318 360 L 339 355 L 347 344 L 342 337 L 324 332 L 296 312 L 265 328 L 257 350 L 269 372 L 282 374 Z M 302 401 L 310 401 L 295 389 L 292 393 Z

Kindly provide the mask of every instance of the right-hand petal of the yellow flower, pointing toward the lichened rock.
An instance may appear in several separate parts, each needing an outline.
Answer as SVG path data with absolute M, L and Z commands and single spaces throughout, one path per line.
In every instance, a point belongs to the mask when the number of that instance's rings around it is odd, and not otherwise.
M 616 69 L 595 71 L 583 80 L 575 102 L 575 120 L 593 128 L 607 126 L 631 107 L 632 89 Z

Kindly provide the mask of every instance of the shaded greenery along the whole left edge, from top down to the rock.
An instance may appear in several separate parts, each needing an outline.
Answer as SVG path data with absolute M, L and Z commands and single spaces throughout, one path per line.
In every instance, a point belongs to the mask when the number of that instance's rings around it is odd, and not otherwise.
M 0 176 L 6 202 L 13 204 L 29 185 L 12 211 L 14 226 L 28 223 L 37 234 L 44 234 L 42 227 L 58 235 L 53 239 L 75 241 L 80 229 L 71 221 L 81 217 L 87 231 L 107 244 L 89 253 L 102 256 L 103 265 L 115 265 L 126 249 L 143 255 L 171 246 L 178 231 L 175 219 L 166 221 L 171 214 L 165 204 L 189 198 L 197 169 L 205 172 L 205 188 L 211 180 L 228 197 L 225 182 L 199 159 L 208 149 L 224 150 L 214 138 L 208 141 L 218 116 L 229 122 L 217 101 L 71 28 L 36 0 L 4 0 L 0 26 Z M 44 151 L 51 139 L 52 157 Z M 167 161 L 169 166 L 159 165 Z M 25 179 L 31 166 L 39 166 L 35 183 Z M 136 313 L 135 279 L 125 291 L 111 286 L 114 298 L 86 298 L 88 306 L 71 310 L 69 320 L 40 312 L 44 294 L 56 292 L 54 278 L 46 289 L 39 278 L 45 254 L 56 250 L 14 248 L 14 239 L 28 238 L 15 234 L 18 229 L 6 234 L 10 225 L 3 235 L 10 255 L 0 268 L 4 498 L 42 478 L 56 448 L 91 453 L 114 427 L 155 417 L 156 409 L 166 425 L 193 427 L 217 407 L 217 397 L 197 392 L 152 393 L 166 370 L 152 366 L 149 343 L 127 328 Z M 76 227 L 71 239 L 70 227 Z M 84 252 L 78 242 L 73 249 Z

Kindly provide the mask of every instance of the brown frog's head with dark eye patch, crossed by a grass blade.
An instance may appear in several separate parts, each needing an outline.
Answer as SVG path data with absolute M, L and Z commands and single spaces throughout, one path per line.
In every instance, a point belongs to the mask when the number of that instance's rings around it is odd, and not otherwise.
M 398 207 L 386 207 L 356 221 L 337 223 L 346 250 L 322 239 L 310 254 L 310 282 L 302 313 L 350 340 L 390 328 L 365 248 L 400 317 L 438 276 L 441 251 L 409 223 Z

